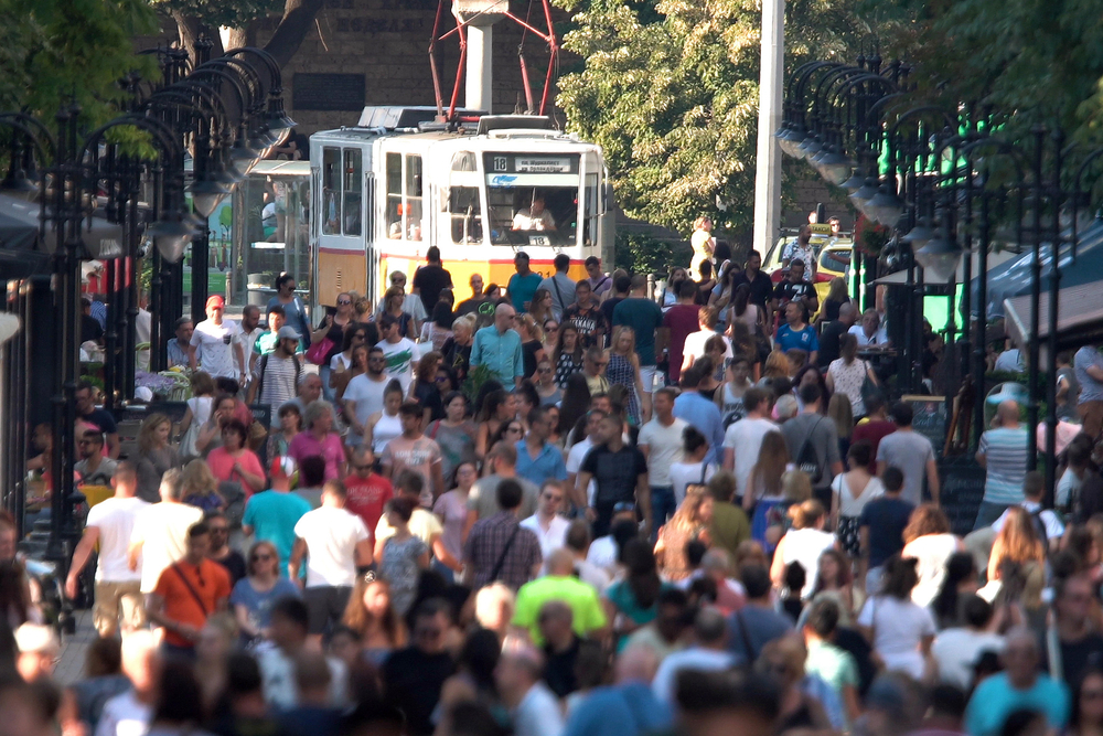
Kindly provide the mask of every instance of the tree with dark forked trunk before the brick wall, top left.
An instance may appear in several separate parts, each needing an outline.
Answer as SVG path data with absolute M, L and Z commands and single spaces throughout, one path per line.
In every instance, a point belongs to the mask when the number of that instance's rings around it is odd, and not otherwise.
M 214 44 L 212 54 L 223 53 L 218 29 L 233 29 L 231 47 L 253 45 L 257 26 L 279 13 L 280 20 L 265 44 L 280 66 L 286 65 L 314 25 L 314 18 L 325 0 L 151 0 L 169 13 L 176 23 L 180 41 L 192 58 L 196 57 L 195 41 L 207 36 Z

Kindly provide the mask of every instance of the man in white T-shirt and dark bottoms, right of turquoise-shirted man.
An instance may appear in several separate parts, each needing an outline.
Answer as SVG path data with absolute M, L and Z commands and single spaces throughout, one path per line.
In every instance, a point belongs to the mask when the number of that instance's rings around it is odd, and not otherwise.
M 356 567 L 372 564 L 372 536 L 364 520 L 344 508 L 345 498 L 344 483 L 325 481 L 321 508 L 303 514 L 295 525 L 288 573 L 298 580 L 302 558 L 307 557 L 302 599 L 310 610 L 309 631 L 315 643 L 344 615 L 356 583 Z

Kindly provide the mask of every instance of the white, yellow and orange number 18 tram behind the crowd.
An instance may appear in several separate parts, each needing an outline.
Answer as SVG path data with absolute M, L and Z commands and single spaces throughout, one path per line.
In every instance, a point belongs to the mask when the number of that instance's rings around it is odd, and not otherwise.
M 560 253 L 574 278 L 589 256 L 611 263 L 613 199 L 599 146 L 543 116 L 465 114 L 445 126 L 436 113 L 367 107 L 355 127 L 310 137 L 315 309 L 342 291 L 374 303 L 395 270 L 413 284 L 433 245 L 457 301 L 475 273 L 504 290 L 521 250 L 544 275 Z

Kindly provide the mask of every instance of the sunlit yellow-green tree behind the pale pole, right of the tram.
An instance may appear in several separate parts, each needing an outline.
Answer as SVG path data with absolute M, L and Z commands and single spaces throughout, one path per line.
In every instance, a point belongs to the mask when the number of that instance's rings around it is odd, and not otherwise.
M 786 7 L 786 66 L 846 58 L 854 0 Z M 709 213 L 753 216 L 761 10 L 757 0 L 557 0 L 577 11 L 564 46 L 582 57 L 560 78 L 568 126 L 606 152 L 625 212 L 687 232 Z M 726 211 L 720 210 L 724 204 Z

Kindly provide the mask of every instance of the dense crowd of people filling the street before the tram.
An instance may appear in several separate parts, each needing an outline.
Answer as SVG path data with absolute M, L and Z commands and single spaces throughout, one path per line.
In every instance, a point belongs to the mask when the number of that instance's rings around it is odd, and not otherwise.
M 99 634 L 72 686 L 0 519 L 0 734 L 1096 733 L 1089 423 L 1047 489 L 1000 404 L 955 534 L 858 354 L 881 316 L 821 305 L 797 255 L 780 284 L 695 257 L 653 296 L 518 253 L 456 302 L 429 248 L 409 292 L 396 271 L 317 327 L 289 277 L 267 327 L 212 297 L 173 338 L 182 422 L 119 459 L 78 392 L 77 470 L 114 493 L 65 580 Z M 1091 409 L 1089 359 L 1067 401 Z

